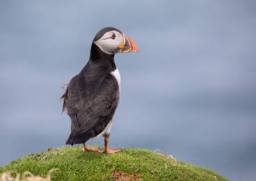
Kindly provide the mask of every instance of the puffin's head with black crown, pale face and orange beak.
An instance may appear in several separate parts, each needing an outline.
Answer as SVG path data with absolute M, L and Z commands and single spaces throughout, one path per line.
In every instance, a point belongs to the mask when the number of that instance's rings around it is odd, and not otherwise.
M 106 54 L 138 52 L 134 41 L 116 28 L 103 28 L 96 34 L 93 43 Z

